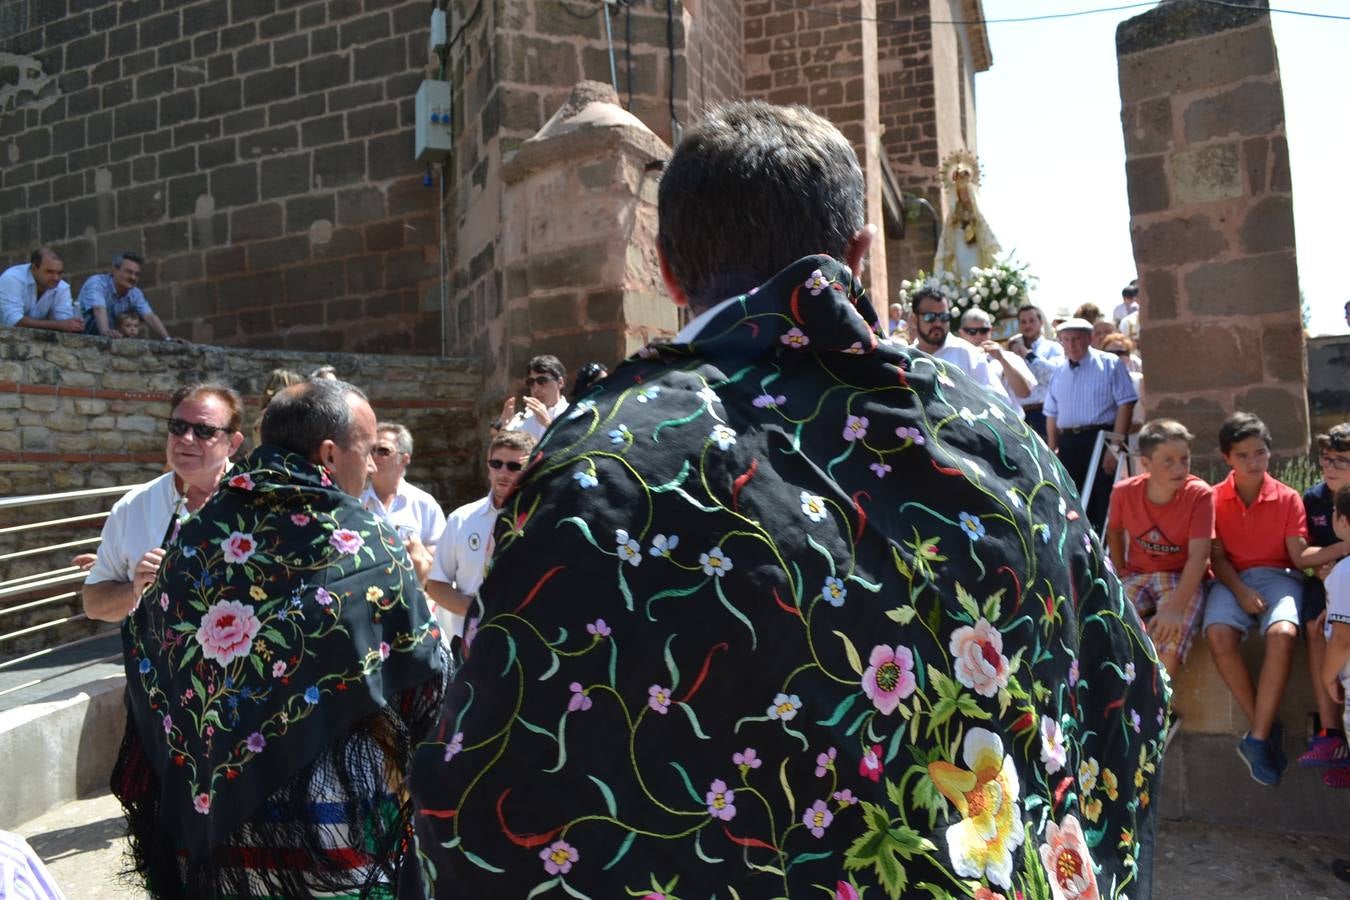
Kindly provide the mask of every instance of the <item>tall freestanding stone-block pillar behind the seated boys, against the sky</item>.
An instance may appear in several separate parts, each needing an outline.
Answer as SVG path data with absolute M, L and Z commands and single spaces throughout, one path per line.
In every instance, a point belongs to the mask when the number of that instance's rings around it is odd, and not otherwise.
M 1270 15 L 1173 0 L 1116 30 L 1146 412 L 1216 448 L 1260 416 L 1308 443 L 1289 151 Z

